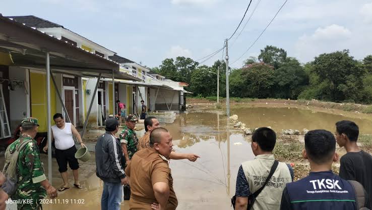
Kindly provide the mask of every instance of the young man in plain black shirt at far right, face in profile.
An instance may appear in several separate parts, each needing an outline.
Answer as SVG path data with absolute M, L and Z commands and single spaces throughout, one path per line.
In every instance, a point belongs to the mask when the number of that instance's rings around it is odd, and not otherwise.
M 355 180 L 363 185 L 372 200 L 372 156 L 361 150 L 356 144 L 359 135 L 358 126 L 351 121 L 343 120 L 336 123 L 336 141 L 340 147 L 345 147 L 347 153 L 340 160 L 340 177 Z M 366 206 L 370 208 L 370 206 Z

